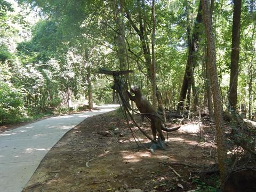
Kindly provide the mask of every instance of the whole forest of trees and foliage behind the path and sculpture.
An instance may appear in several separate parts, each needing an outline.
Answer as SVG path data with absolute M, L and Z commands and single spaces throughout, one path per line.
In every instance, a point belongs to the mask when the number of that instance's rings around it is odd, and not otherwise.
M 118 103 L 99 71 L 133 70 L 163 122 L 214 124 L 225 191 L 255 166 L 255 25 L 253 0 L 0 0 L 0 125 Z

